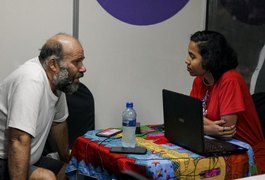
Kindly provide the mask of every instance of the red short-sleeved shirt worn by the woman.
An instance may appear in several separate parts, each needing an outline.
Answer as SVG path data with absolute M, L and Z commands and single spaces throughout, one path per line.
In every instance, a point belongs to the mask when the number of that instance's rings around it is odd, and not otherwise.
M 205 115 L 207 118 L 220 120 L 223 115 L 237 113 L 235 138 L 252 146 L 264 141 L 249 88 L 239 72 L 236 70 L 225 72 L 211 87 L 206 86 L 202 80 L 202 77 L 194 79 L 190 95 L 202 100 L 208 90 Z

